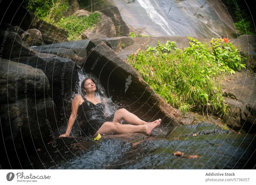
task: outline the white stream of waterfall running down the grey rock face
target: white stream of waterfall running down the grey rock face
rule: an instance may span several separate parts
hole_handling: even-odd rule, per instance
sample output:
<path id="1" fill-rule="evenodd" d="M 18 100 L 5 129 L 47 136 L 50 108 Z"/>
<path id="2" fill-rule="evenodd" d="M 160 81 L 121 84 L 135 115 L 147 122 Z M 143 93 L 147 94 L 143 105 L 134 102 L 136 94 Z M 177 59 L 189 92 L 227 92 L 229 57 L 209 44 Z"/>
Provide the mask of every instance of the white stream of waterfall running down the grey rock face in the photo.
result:
<path id="1" fill-rule="evenodd" d="M 157 25 L 160 25 L 161 28 L 167 33 L 167 35 L 173 36 L 175 33 L 171 30 L 169 23 L 165 20 L 163 16 L 161 16 L 152 5 L 150 0 L 137 0 L 141 7 L 143 7 L 148 17 Z M 154 0 L 155 1 L 155 0 Z M 156 3 L 156 2 L 155 2 Z M 157 3 L 156 3 L 157 4 Z M 170 34 L 170 32 L 172 34 Z"/>

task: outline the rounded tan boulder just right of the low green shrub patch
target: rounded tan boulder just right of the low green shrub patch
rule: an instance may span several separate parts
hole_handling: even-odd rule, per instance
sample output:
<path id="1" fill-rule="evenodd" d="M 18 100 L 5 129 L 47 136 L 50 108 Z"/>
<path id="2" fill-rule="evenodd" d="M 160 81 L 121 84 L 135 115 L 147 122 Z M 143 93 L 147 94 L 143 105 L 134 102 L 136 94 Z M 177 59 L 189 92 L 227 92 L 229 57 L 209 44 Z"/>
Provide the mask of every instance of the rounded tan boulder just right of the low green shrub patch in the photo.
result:
<path id="1" fill-rule="evenodd" d="M 105 16 L 103 13 L 99 11 L 95 11 L 100 14 L 100 22 L 96 25 L 94 25 L 91 28 L 88 28 L 85 30 L 85 35 L 90 32 L 90 33 L 100 33 L 103 35 L 106 35 L 108 38 L 115 37 L 116 36 L 116 29 L 113 21 L 111 18 Z"/>

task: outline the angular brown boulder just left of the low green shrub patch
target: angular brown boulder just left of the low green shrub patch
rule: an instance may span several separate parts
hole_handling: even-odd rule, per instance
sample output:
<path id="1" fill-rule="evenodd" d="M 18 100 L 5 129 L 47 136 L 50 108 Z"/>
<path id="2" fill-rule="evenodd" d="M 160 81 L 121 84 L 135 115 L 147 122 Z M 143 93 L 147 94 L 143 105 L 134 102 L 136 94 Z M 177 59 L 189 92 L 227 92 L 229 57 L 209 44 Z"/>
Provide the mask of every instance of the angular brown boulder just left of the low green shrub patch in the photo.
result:
<path id="1" fill-rule="evenodd" d="M 38 19 L 36 29 L 38 29 L 42 33 L 43 41 L 45 44 L 68 41 L 68 31 L 51 25 L 50 23 L 47 23 L 42 19 Z"/>

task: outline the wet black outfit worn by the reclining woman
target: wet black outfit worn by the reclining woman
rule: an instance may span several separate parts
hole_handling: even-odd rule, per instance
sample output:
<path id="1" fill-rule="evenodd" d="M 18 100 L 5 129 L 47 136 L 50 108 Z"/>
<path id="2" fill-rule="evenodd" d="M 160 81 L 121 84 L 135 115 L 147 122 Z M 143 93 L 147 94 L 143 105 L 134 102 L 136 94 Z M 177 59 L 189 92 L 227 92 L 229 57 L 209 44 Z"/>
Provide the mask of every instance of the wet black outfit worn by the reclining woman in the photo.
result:
<path id="1" fill-rule="evenodd" d="M 82 96 L 83 97 L 83 96 Z M 77 118 L 80 125 L 80 134 L 83 137 L 93 136 L 105 122 L 112 122 L 114 113 L 105 117 L 105 104 L 101 101 L 96 105 L 86 98 L 79 105 L 77 110 Z"/>

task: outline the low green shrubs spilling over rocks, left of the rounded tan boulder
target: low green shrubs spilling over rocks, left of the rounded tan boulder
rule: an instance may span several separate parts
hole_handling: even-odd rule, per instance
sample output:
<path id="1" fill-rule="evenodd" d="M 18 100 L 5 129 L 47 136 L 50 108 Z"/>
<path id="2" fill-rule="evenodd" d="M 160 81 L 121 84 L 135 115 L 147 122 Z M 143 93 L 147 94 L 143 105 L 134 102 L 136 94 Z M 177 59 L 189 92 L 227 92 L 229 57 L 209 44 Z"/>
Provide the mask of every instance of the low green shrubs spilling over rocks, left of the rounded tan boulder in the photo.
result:
<path id="1" fill-rule="evenodd" d="M 93 25 L 100 22 L 100 14 L 95 12 L 89 16 L 68 16 L 67 18 L 62 17 L 56 24 L 57 26 L 68 31 L 68 40 L 78 40 L 79 36 L 87 28 L 92 28 Z"/>

